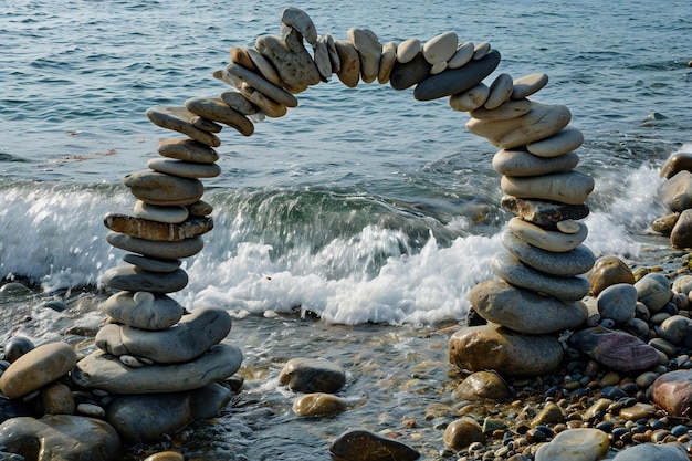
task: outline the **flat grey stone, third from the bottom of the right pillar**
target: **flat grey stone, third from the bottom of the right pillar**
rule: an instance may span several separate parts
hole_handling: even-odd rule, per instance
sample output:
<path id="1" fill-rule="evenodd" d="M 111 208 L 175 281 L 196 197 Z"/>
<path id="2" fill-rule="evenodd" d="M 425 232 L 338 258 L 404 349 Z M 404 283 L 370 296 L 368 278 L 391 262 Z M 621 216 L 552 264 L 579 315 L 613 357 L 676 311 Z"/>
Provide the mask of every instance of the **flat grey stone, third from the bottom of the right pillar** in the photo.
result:
<path id="1" fill-rule="evenodd" d="M 490 263 L 495 275 L 505 282 L 558 300 L 579 301 L 589 292 L 589 282 L 585 277 L 553 276 L 523 264 L 505 251 L 493 254 Z"/>

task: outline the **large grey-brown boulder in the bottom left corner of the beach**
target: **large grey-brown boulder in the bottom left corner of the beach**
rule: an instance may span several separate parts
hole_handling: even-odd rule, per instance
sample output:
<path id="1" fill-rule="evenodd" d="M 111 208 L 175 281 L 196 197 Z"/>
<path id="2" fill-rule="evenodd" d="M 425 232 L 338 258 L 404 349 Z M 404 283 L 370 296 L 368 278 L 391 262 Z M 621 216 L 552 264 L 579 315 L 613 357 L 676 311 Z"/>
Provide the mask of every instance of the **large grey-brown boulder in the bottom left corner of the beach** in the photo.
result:
<path id="1" fill-rule="evenodd" d="M 0 425 L 0 447 L 12 453 L 36 453 L 31 459 L 40 461 L 122 459 L 120 438 L 111 425 L 74 415 L 8 419 Z"/>

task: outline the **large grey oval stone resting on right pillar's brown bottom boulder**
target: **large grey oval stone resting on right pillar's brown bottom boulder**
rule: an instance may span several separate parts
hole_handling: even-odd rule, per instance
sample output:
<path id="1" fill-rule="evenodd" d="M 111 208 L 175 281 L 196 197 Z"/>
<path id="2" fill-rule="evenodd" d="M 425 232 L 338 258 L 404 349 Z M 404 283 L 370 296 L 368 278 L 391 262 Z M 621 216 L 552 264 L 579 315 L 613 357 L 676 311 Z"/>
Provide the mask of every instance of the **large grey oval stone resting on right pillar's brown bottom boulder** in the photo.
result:
<path id="1" fill-rule="evenodd" d="M 562 302 L 499 281 L 479 283 L 469 293 L 469 300 L 486 321 L 534 335 L 576 328 L 588 316 L 580 301 Z"/>

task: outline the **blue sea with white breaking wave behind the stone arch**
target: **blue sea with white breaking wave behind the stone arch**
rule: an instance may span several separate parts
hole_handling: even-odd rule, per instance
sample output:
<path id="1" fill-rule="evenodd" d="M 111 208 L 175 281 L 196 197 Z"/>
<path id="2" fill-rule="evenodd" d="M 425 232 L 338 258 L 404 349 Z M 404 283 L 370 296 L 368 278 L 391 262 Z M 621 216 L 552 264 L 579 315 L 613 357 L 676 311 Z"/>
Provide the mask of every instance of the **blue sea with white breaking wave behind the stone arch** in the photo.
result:
<path id="1" fill-rule="evenodd" d="M 71 325 L 97 326 L 98 279 L 123 264 L 102 219 L 132 208 L 120 178 L 146 169 L 158 139 L 176 137 L 150 124 L 145 111 L 229 90 L 212 73 L 229 63 L 231 46 L 279 34 L 289 6 L 0 0 L 0 280 L 34 287 L 30 301 L 0 302 L 0 340 L 24 334 L 41 342 Z M 502 62 L 486 83 L 499 73 L 547 73 L 547 86 L 532 98 L 569 107 L 570 126 L 586 138 L 577 169 L 596 181 L 587 245 L 632 266 L 673 253 L 650 227 L 668 213 L 657 196 L 661 166 L 671 154 L 692 153 L 688 0 L 294 6 L 318 34 L 336 39 L 356 27 L 381 43 L 424 42 L 447 31 L 460 41 L 489 41 Z M 406 362 L 418 332 L 463 321 L 468 292 L 493 277 L 489 258 L 511 218 L 500 208 L 500 176 L 491 167 L 496 148 L 466 132 L 468 114 L 448 99 L 422 103 L 412 88 L 377 83 L 348 88 L 336 76 L 296 96 L 298 107 L 258 122 L 251 137 L 231 128 L 220 134 L 222 174 L 205 181 L 214 229 L 202 252 L 184 263 L 190 283 L 174 295 L 188 308 L 231 312 L 245 343 L 245 378 L 258 394 L 279 392 L 271 383 L 281 360 L 307 340 L 294 336 L 298 324 L 307 337 L 318 331 L 314 352 L 329 355 L 325 344 L 336 336 L 352 344 L 346 350 L 364 354 L 379 332 L 399 357 L 380 360 Z M 36 307 L 46 298 L 73 308 L 55 318 Z M 349 343 L 349 335 L 357 339 Z M 264 412 L 274 415 L 280 404 L 260 401 L 255 411 L 271 419 Z M 375 408 L 374 415 L 384 411 Z M 247 423 L 242 415 L 228 418 L 231 426 Z M 298 428 L 296 434 L 314 436 Z M 220 431 L 227 441 L 233 432 Z M 275 451 L 283 443 L 272 439 L 275 432 L 263 437 L 271 447 L 248 443 L 237 458 L 224 455 L 326 459 L 325 440 L 295 444 L 291 458 Z"/>

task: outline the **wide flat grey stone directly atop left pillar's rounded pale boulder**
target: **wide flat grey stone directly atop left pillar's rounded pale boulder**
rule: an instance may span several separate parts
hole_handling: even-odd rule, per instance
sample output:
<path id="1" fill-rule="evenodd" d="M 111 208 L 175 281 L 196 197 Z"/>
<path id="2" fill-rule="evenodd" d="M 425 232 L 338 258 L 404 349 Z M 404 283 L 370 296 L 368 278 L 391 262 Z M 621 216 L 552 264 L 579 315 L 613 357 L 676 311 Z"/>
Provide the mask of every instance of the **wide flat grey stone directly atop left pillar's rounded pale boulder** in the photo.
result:
<path id="1" fill-rule="evenodd" d="M 188 274 L 182 269 L 165 273 L 145 271 L 136 265 L 122 265 L 104 272 L 101 283 L 109 290 L 174 293 L 187 286 Z"/>

